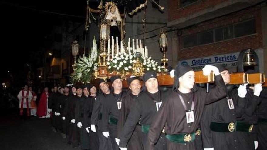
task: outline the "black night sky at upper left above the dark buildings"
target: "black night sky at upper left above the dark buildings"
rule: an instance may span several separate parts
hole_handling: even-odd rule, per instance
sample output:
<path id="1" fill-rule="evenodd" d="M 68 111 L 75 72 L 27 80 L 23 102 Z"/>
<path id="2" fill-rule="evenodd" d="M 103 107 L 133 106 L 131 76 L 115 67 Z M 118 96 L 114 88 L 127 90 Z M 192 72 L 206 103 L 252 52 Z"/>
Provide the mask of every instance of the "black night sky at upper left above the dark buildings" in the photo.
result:
<path id="1" fill-rule="evenodd" d="M 46 34 L 51 31 L 55 21 L 71 19 L 85 22 L 85 18 L 56 13 L 85 17 L 86 0 L 0 1 L 1 72 L 9 70 L 19 73 L 27 62 L 31 63 L 30 54 L 43 45 Z M 3 73 L 1 77 L 4 76 Z"/>

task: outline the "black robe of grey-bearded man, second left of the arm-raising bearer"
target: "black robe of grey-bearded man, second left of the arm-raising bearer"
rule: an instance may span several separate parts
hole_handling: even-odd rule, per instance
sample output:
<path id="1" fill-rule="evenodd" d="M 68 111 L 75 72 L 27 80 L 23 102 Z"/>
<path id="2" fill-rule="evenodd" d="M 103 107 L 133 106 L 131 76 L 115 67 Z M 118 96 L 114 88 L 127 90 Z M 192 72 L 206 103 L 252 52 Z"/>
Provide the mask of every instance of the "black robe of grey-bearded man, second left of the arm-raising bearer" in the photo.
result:
<path id="1" fill-rule="evenodd" d="M 131 92 L 131 91 L 129 91 Z M 120 115 L 117 125 L 117 137 L 120 137 L 120 132 L 123 128 L 123 125 L 126 122 L 126 119 L 130 113 L 131 107 L 137 101 L 138 95 L 133 95 L 132 93 L 128 93 L 125 97 L 122 98 Z M 133 135 L 131 136 L 129 142 L 127 143 L 128 150 L 142 150 L 142 132 L 141 126 L 138 123 L 134 129 Z"/>

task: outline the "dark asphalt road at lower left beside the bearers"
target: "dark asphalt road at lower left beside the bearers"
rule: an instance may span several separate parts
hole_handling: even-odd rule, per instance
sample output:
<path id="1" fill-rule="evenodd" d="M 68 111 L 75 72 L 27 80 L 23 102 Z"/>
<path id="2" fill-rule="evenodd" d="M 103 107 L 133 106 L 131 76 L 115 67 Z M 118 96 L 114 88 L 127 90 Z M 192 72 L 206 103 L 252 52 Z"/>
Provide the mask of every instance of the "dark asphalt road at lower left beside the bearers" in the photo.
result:
<path id="1" fill-rule="evenodd" d="M 0 150 L 79 150 L 52 131 L 50 119 L 19 118 L 14 111 L 0 118 Z"/>

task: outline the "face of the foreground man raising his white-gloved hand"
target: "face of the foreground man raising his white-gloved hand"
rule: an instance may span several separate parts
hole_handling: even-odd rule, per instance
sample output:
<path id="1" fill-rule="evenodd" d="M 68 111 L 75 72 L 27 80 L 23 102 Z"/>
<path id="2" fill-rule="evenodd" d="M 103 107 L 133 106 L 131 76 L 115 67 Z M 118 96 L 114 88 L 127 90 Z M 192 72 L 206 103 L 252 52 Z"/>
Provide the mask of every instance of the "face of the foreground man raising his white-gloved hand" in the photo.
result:
<path id="1" fill-rule="evenodd" d="M 183 76 L 179 78 L 179 86 L 192 89 L 195 83 L 195 73 L 194 71 L 186 72 Z"/>

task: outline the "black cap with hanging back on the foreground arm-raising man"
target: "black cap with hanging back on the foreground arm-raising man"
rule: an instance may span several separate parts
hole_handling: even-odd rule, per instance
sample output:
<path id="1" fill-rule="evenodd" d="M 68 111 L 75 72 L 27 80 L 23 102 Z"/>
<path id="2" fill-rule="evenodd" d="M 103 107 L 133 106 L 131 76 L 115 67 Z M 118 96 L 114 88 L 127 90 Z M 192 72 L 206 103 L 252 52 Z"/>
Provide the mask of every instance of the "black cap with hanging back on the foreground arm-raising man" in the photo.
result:
<path id="1" fill-rule="evenodd" d="M 190 66 L 176 65 L 174 70 L 174 84 L 172 89 L 177 90 L 179 87 L 179 78 L 189 71 L 194 71 Z"/>

